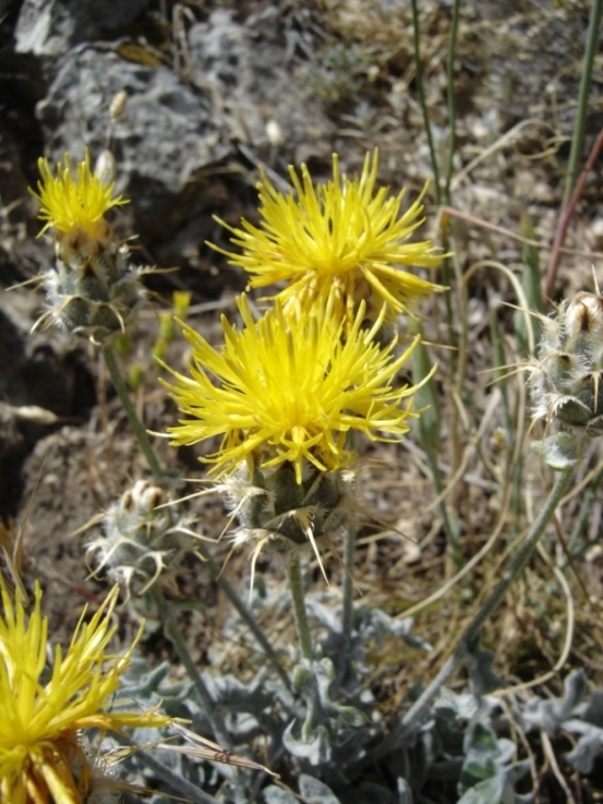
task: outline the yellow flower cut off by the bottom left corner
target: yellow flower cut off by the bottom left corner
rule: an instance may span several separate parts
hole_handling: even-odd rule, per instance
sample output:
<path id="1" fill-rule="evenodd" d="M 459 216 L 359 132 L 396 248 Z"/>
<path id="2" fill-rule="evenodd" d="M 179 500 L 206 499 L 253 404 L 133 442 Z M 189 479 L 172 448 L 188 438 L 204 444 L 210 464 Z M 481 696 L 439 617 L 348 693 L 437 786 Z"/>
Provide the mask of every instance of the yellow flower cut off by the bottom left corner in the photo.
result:
<path id="1" fill-rule="evenodd" d="M 0 591 L 0 801 L 81 804 L 93 773 L 77 739 L 81 729 L 117 732 L 167 725 L 170 719 L 155 711 L 110 709 L 134 648 L 123 656 L 105 653 L 114 632 L 117 587 L 89 623 L 84 611 L 67 651 L 55 648 L 50 670 L 39 586 L 28 616 L 20 593 L 13 600 L 1 579 Z"/>

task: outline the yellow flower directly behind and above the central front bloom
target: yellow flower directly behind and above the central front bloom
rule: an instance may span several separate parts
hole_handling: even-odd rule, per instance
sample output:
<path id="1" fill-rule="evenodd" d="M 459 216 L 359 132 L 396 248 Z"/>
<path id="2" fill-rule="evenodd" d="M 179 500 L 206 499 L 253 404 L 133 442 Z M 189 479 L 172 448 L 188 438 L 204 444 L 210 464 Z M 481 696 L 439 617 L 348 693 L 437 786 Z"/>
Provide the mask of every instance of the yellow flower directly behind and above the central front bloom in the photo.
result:
<path id="1" fill-rule="evenodd" d="M 252 274 L 250 287 L 262 288 L 278 281 L 287 287 L 278 298 L 298 299 L 307 310 L 324 307 L 335 288 L 336 314 L 346 314 L 347 326 L 355 319 L 362 299 L 374 321 L 386 303 L 386 321 L 409 312 L 413 302 L 435 290 L 445 290 L 400 269 L 399 265 L 435 266 L 442 254 L 430 242 L 408 242 L 423 223 L 423 195 L 400 215 L 406 191 L 387 197 L 388 189 L 375 192 L 378 153 L 366 154 L 360 179 L 351 181 L 339 172 L 333 156 L 333 181 L 314 188 L 305 165 L 301 180 L 289 168 L 297 199 L 279 193 L 262 173 L 258 227 L 243 220 L 242 228 L 219 221 L 234 237 L 242 254 L 221 251 L 230 263 Z M 426 189 L 426 187 L 425 187 Z"/>

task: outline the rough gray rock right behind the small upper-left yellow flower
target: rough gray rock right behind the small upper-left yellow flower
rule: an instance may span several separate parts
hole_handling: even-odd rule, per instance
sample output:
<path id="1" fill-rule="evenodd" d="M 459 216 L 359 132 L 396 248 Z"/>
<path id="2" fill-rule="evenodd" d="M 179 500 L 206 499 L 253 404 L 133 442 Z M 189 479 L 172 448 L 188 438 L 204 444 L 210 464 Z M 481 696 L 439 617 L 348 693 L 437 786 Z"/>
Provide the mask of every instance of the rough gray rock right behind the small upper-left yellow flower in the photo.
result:
<path id="1" fill-rule="evenodd" d="M 122 91 L 125 113 L 111 128 L 109 106 Z M 111 136 L 118 191 L 133 200 L 130 208 L 149 226 L 172 212 L 196 170 L 229 151 L 202 93 L 193 93 L 167 67 L 128 62 L 89 46 L 70 53 L 37 112 L 57 160 L 65 152 L 80 159 L 85 146 L 97 155 Z"/>

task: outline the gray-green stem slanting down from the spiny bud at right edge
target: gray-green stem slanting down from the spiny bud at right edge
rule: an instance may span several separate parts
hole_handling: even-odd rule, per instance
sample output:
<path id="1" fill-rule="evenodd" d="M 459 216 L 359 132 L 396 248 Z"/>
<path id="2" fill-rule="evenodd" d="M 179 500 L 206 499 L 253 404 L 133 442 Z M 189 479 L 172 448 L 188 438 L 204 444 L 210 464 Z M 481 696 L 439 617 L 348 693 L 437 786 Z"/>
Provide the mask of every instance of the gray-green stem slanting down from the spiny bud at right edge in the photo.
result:
<path id="1" fill-rule="evenodd" d="M 559 472 L 555 480 L 555 484 L 551 489 L 546 503 L 541 508 L 535 521 L 526 541 L 519 548 L 507 571 L 498 584 L 494 587 L 492 595 L 483 603 L 480 611 L 475 614 L 473 620 L 469 623 L 467 628 L 461 634 L 455 652 L 448 659 L 446 664 L 441 669 L 432 683 L 421 694 L 419 699 L 411 706 L 408 712 L 402 718 L 400 727 L 402 731 L 408 730 L 418 721 L 424 713 L 425 709 L 430 706 L 432 700 L 435 698 L 439 689 L 444 684 L 453 676 L 457 668 L 467 659 L 471 647 L 473 646 L 482 626 L 489 620 L 489 617 L 496 611 L 503 598 L 507 593 L 512 583 L 519 577 L 523 567 L 528 563 L 530 556 L 534 552 L 534 549 L 540 540 L 540 537 L 544 532 L 544 529 L 551 518 L 553 517 L 560 499 L 565 494 L 569 481 L 571 479 L 574 467 L 568 467 L 564 471 Z"/>

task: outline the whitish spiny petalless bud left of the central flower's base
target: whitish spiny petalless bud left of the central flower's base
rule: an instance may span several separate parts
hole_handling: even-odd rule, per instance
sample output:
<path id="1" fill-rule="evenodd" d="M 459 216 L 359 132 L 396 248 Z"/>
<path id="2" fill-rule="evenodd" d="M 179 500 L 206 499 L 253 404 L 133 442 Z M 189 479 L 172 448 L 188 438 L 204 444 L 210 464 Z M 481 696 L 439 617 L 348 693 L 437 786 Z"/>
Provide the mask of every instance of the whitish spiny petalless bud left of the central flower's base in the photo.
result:
<path id="1" fill-rule="evenodd" d="M 110 505 L 104 536 L 86 550 L 95 564 L 94 575 L 104 571 L 134 595 L 143 595 L 159 579 L 173 589 L 184 555 L 194 552 L 194 537 L 188 527 L 191 523 L 167 502 L 160 485 L 138 480 Z"/>

